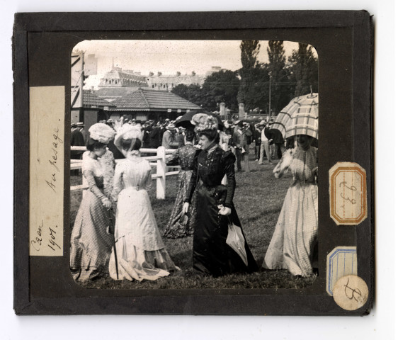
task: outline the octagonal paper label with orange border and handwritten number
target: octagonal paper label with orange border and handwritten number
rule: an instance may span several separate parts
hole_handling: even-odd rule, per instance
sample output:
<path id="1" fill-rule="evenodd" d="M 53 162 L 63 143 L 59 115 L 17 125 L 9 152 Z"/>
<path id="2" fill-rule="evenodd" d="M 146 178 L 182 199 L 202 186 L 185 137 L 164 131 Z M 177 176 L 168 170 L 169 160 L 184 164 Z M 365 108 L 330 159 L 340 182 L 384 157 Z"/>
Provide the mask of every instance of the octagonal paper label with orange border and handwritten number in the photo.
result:
<path id="1" fill-rule="evenodd" d="M 330 216 L 337 225 L 358 225 L 368 216 L 366 172 L 356 163 L 339 162 L 329 170 Z"/>

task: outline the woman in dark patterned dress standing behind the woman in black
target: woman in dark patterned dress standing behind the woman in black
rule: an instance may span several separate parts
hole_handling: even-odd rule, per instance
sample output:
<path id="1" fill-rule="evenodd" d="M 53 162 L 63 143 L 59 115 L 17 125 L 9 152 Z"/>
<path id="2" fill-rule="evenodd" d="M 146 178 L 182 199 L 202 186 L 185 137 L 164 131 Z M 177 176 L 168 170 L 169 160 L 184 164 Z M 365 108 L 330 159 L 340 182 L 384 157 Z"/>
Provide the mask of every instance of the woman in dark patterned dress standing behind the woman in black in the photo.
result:
<path id="1" fill-rule="evenodd" d="M 183 203 L 186 200 L 186 192 L 191 181 L 193 171 L 193 159 L 199 151 L 193 146 L 192 142 L 195 138 L 193 130 L 186 130 L 185 145 L 174 152 L 172 161 L 178 161 L 181 171 L 178 174 L 178 193 L 174 208 L 171 211 L 169 223 L 163 231 L 165 237 L 176 239 L 178 237 L 186 237 L 193 234 L 193 226 L 196 218 L 196 195 L 193 194 L 193 204 L 188 209 L 187 214 L 183 214 Z"/>

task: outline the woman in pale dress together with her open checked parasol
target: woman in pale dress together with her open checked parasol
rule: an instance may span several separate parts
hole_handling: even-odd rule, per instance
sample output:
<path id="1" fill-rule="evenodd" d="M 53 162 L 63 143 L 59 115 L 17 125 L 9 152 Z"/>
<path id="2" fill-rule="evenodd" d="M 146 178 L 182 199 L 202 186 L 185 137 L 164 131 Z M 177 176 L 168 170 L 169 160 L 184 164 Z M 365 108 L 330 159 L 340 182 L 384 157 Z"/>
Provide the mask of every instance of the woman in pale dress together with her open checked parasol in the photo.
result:
<path id="1" fill-rule="evenodd" d="M 290 170 L 293 182 L 263 261 L 264 268 L 288 269 L 297 277 L 317 270 L 318 237 L 318 149 L 311 146 L 318 137 L 318 111 L 313 94 L 302 97 L 293 99 L 297 110 L 284 125 L 285 137 L 295 136 L 297 146 L 288 149 L 273 170 L 276 178 Z"/>

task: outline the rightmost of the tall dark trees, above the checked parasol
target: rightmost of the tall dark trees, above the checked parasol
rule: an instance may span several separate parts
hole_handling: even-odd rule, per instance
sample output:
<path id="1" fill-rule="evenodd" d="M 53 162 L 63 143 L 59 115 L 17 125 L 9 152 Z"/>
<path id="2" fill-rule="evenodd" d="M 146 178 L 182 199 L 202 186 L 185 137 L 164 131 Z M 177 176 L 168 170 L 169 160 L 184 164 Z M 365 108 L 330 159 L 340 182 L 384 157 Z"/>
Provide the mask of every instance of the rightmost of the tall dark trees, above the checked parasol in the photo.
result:
<path id="1" fill-rule="evenodd" d="M 290 80 L 295 84 L 294 96 L 318 92 L 318 59 L 312 53 L 312 46 L 299 43 L 289 57 Z"/>

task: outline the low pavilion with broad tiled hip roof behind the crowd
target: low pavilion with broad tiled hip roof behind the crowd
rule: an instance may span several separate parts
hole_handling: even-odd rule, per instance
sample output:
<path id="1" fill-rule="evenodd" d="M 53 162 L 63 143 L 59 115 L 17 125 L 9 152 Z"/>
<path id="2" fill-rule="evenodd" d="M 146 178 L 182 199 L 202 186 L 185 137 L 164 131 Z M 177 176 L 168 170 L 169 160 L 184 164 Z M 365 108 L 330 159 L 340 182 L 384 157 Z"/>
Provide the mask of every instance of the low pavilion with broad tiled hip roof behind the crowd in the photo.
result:
<path id="1" fill-rule="evenodd" d="M 200 110 L 200 106 L 187 101 L 168 91 L 154 89 L 138 89 L 112 102 L 108 115 L 112 120 L 122 115 L 139 120 L 176 119 L 178 115 L 192 110 Z"/>

